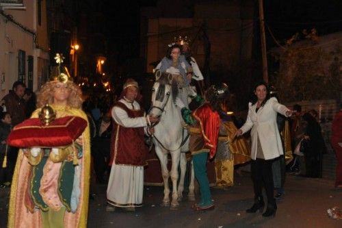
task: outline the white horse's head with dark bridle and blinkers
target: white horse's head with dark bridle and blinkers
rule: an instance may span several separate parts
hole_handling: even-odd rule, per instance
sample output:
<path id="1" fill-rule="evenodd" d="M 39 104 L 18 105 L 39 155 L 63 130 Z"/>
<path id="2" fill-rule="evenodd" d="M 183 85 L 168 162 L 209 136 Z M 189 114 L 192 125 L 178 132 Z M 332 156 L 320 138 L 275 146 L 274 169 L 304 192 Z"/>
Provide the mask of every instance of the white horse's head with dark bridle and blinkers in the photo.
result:
<path id="1" fill-rule="evenodd" d="M 170 73 L 157 71 L 155 84 L 152 88 L 152 103 L 150 114 L 161 116 L 168 102 L 173 102 L 178 94 L 178 86 Z"/>

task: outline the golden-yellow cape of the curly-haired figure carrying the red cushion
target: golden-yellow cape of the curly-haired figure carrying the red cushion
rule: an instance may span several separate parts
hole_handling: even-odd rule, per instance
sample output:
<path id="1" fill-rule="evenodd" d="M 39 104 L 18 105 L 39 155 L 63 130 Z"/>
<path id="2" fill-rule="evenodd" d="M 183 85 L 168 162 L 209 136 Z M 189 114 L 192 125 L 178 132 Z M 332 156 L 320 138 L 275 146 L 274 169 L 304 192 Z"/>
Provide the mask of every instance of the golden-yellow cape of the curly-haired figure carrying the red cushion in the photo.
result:
<path id="1" fill-rule="evenodd" d="M 53 110 L 57 113 L 57 118 L 64 116 L 79 116 L 85 119 L 88 123 L 86 114 L 81 109 L 75 109 L 68 106 L 51 105 Z M 32 114 L 32 118 L 37 118 L 40 109 L 36 110 Z M 88 198 L 89 198 L 89 184 L 90 184 L 90 128 L 89 123 L 83 134 L 80 136 L 83 138 L 82 148 L 83 155 L 79 158 L 80 169 L 80 201 L 77 207 L 77 211 L 65 212 L 64 214 L 64 227 L 87 227 L 88 218 Z M 27 160 L 22 150 L 19 150 L 14 175 L 12 178 L 12 186 L 10 193 L 10 207 L 8 210 L 8 227 L 25 227 L 25 228 L 41 228 L 42 218 L 40 210 L 29 212 L 25 206 L 25 194 L 29 186 L 29 177 L 31 174 L 31 164 Z"/>

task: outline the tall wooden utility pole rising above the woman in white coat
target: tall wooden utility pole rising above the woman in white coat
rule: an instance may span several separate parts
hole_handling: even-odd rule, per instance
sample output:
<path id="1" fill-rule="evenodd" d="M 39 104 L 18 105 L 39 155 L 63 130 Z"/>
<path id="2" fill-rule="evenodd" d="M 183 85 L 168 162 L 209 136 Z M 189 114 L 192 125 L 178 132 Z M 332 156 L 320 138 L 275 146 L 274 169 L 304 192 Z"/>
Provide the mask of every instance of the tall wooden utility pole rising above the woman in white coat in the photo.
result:
<path id="1" fill-rule="evenodd" d="M 263 18 L 263 0 L 259 0 L 259 21 L 260 21 L 261 54 L 263 58 L 263 80 L 266 83 L 268 83 L 265 21 Z"/>

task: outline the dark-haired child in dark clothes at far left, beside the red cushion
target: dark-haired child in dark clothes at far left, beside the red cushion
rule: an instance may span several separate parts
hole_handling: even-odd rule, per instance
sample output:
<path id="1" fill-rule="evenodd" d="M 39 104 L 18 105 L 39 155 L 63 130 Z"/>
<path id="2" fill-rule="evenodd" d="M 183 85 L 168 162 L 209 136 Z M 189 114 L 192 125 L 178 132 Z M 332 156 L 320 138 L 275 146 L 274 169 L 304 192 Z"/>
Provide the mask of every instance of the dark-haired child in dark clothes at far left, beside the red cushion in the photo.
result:
<path id="1" fill-rule="evenodd" d="M 6 188 L 11 184 L 10 168 L 7 164 L 7 153 L 10 146 L 6 143 L 6 139 L 12 129 L 12 120 L 8 112 L 1 112 L 0 119 L 0 188 Z"/>

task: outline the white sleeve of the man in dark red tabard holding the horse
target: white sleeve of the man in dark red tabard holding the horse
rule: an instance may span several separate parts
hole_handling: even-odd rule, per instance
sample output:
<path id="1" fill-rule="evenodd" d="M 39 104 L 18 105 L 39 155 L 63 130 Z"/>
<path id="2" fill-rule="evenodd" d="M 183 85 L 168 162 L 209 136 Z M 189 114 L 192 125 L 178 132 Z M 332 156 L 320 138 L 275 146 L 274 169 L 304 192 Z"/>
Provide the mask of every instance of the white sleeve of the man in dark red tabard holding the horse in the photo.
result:
<path id="1" fill-rule="evenodd" d="M 136 118 L 130 118 L 127 115 L 127 112 L 122 110 L 121 107 L 114 106 L 111 110 L 111 117 L 114 118 L 114 121 L 118 123 L 118 125 L 121 125 L 122 127 L 146 127 L 146 118 L 144 116 L 142 117 L 136 117 Z"/>

